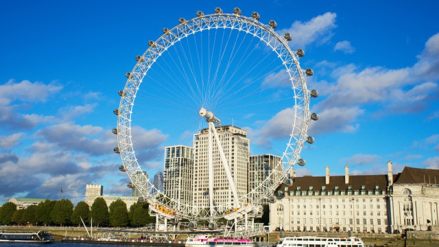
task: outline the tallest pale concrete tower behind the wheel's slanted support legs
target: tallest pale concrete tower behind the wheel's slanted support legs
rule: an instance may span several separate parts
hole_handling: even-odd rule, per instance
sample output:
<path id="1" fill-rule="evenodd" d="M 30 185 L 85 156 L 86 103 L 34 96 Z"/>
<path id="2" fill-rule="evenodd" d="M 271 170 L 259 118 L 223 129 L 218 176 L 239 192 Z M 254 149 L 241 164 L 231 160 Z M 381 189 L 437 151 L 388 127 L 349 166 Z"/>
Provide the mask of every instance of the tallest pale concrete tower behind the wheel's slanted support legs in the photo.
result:
<path id="1" fill-rule="evenodd" d="M 215 127 L 221 141 L 224 154 L 230 167 L 233 182 L 239 197 L 247 193 L 248 162 L 250 156 L 250 140 L 246 130 L 235 126 Z M 194 178 L 193 178 L 193 205 L 200 208 L 209 208 L 209 163 L 208 163 L 208 135 L 209 128 L 194 134 Z M 223 205 L 217 211 L 224 212 L 233 209 L 235 205 L 233 193 L 227 180 L 224 165 L 219 156 L 217 142 L 213 139 L 213 204 Z"/>

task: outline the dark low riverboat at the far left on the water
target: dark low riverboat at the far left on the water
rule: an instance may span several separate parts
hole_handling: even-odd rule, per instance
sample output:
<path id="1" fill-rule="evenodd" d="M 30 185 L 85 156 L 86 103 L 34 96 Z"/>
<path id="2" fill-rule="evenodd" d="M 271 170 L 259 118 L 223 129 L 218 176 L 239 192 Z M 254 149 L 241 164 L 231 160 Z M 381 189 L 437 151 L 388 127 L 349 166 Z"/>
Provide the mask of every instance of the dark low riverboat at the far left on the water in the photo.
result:
<path id="1" fill-rule="evenodd" d="M 38 231 L 38 233 L 6 233 L 0 231 L 1 242 L 48 244 L 54 242 L 54 237 L 46 231 Z"/>

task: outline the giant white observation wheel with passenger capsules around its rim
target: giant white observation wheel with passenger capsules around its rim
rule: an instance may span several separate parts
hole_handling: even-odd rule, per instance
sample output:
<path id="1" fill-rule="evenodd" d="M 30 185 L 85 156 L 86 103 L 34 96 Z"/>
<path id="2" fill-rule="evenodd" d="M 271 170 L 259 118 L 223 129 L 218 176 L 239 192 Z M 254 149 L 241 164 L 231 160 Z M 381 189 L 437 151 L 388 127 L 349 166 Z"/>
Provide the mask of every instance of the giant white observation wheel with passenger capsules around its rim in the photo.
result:
<path id="1" fill-rule="evenodd" d="M 198 11 L 193 19 L 180 18 L 176 27 L 163 28 L 160 38 L 147 42 L 126 73 L 112 130 L 119 143 L 114 151 L 123 161 L 119 169 L 130 177 L 128 187 L 136 187 L 150 209 L 171 222 L 260 215 L 262 203 L 276 200 L 278 186 L 292 183 L 293 166 L 305 165 L 300 151 L 314 142 L 307 128 L 318 119 L 309 111 L 310 98 L 318 97 L 307 89 L 313 71 L 300 68 L 305 52 L 289 47 L 291 34 L 280 36 L 275 21 L 265 25 L 259 18 L 257 12 L 243 16 L 239 8 L 233 14 L 216 8 L 215 14 Z M 192 187 L 178 184 L 174 191 L 198 191 L 191 203 L 181 193 L 158 191 L 143 172 L 167 169 L 165 156 L 183 158 L 165 152 L 176 145 L 195 161 L 165 172 L 165 180 L 189 173 Z M 270 169 L 252 177 L 245 172 L 248 156 L 268 153 L 278 157 Z M 247 189 L 243 180 L 259 182 Z"/>

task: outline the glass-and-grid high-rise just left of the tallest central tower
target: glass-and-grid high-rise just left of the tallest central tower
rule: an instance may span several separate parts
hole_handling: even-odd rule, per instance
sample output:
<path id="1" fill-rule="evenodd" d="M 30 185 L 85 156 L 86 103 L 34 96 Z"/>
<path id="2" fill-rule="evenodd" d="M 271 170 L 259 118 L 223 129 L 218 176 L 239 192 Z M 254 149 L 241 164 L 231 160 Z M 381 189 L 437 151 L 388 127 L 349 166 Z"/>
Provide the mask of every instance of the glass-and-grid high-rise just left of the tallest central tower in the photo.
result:
<path id="1" fill-rule="evenodd" d="M 182 204 L 192 203 L 193 148 L 184 145 L 165 148 L 163 191 Z"/>

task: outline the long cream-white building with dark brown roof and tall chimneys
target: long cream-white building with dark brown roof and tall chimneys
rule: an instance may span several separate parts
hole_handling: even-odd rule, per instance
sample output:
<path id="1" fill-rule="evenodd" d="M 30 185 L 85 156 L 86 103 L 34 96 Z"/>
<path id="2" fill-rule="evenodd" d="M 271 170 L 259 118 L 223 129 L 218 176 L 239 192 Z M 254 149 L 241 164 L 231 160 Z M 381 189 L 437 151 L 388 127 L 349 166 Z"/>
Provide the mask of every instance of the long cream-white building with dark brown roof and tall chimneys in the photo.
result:
<path id="1" fill-rule="evenodd" d="M 401 174 L 303 176 L 282 185 L 270 204 L 270 228 L 285 231 L 392 233 L 438 225 L 439 170 L 405 167 Z M 439 181 L 439 180 L 438 180 Z"/>

